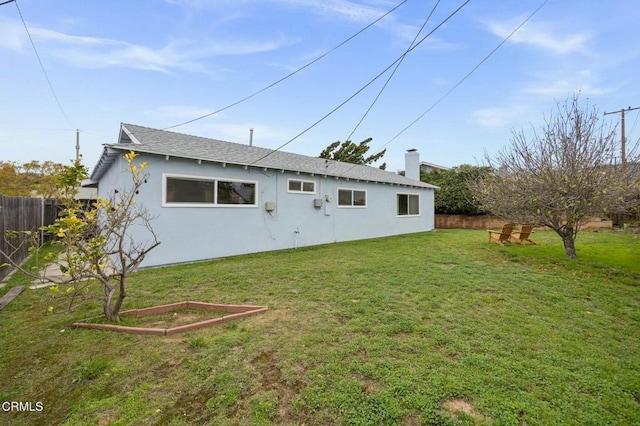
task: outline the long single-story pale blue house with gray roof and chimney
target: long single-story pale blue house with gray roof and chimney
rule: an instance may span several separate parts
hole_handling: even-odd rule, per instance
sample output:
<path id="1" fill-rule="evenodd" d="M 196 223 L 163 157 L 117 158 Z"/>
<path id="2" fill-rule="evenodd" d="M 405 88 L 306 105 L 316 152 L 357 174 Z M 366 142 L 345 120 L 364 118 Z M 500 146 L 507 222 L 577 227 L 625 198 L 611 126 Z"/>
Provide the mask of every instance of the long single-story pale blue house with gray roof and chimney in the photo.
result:
<path id="1" fill-rule="evenodd" d="M 122 124 L 91 174 L 98 196 L 130 184 L 123 155 L 147 163 L 136 200 L 160 246 L 141 265 L 192 262 L 434 229 L 436 186 L 378 168 Z M 147 238 L 136 234 L 134 241 Z"/>

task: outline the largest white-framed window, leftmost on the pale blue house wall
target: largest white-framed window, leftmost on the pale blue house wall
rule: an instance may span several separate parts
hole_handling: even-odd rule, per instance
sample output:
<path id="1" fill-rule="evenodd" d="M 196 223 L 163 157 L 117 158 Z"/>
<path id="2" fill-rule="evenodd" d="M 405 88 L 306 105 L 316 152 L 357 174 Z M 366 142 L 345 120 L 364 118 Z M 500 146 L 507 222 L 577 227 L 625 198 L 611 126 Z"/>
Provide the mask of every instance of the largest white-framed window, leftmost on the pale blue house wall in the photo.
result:
<path id="1" fill-rule="evenodd" d="M 256 182 L 165 176 L 164 204 L 173 206 L 256 206 Z"/>

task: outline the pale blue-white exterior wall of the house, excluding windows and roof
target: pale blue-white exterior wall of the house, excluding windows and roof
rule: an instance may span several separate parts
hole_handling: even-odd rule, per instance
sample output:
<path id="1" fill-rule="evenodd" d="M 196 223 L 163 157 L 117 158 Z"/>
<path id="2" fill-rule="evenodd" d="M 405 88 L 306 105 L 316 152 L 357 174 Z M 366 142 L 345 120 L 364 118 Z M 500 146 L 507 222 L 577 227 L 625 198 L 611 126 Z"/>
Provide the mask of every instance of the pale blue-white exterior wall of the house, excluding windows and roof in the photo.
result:
<path id="1" fill-rule="evenodd" d="M 337 241 L 349 241 L 434 229 L 434 191 L 397 185 L 356 182 L 334 177 L 310 176 L 217 163 L 197 164 L 195 160 L 141 154 L 135 162 L 146 161 L 148 183 L 136 199 L 155 216 L 152 227 L 161 244 L 146 257 L 143 267 L 191 262 L 238 254 L 295 248 Z M 225 207 L 163 206 L 164 174 L 201 178 L 223 178 L 257 183 L 257 205 Z M 106 197 L 129 183 L 121 158 L 99 183 L 98 193 Z M 288 179 L 315 182 L 315 194 L 289 193 Z M 338 207 L 338 188 L 365 190 L 367 206 Z M 397 216 L 397 193 L 419 194 L 419 216 Z M 323 201 L 315 208 L 313 200 Z M 265 202 L 276 205 L 265 210 Z M 133 230 L 135 232 L 135 230 Z M 141 242 L 147 234 L 133 234 Z"/>

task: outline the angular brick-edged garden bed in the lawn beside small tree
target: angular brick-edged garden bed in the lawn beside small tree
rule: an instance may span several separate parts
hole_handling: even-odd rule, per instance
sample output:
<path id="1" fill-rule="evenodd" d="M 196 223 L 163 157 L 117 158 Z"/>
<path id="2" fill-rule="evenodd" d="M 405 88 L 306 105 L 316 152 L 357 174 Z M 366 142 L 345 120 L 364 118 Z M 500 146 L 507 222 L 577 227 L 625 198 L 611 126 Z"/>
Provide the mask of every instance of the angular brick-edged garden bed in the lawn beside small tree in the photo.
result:
<path id="1" fill-rule="evenodd" d="M 74 322 L 72 327 L 120 331 L 132 334 L 168 336 L 211 327 L 223 322 L 264 312 L 266 306 L 222 305 L 205 302 L 178 302 L 120 313 L 125 324 L 104 323 L 104 317 Z M 135 325 L 126 325 L 135 324 Z"/>

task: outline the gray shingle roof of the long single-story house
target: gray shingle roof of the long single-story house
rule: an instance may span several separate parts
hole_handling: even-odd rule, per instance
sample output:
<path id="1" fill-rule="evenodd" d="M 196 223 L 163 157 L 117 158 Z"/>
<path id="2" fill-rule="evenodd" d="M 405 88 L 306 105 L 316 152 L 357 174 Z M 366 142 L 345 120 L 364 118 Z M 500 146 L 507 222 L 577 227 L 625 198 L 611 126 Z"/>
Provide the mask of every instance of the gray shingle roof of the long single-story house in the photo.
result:
<path id="1" fill-rule="evenodd" d="M 105 145 L 91 179 L 98 181 L 114 160 L 113 150 L 157 154 L 194 160 L 266 167 L 268 169 L 341 177 L 421 188 L 437 188 L 375 167 L 309 157 L 290 152 L 225 142 L 181 133 L 157 130 L 133 124 L 121 125 L 117 144 Z M 109 149 L 111 148 L 111 150 Z M 111 154 L 110 154 L 111 152 Z"/>

